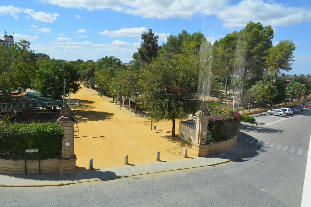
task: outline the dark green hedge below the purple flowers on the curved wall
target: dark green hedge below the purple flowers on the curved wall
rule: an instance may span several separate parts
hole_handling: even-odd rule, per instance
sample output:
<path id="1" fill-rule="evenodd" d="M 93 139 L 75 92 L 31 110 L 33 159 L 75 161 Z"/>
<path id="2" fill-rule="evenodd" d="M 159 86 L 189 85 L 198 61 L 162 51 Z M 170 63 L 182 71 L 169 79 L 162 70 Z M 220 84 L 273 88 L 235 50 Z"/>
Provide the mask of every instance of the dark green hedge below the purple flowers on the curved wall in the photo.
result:
<path id="1" fill-rule="evenodd" d="M 234 137 L 239 132 L 240 122 L 227 121 L 209 121 L 208 122 L 208 142 L 219 142 Z"/>

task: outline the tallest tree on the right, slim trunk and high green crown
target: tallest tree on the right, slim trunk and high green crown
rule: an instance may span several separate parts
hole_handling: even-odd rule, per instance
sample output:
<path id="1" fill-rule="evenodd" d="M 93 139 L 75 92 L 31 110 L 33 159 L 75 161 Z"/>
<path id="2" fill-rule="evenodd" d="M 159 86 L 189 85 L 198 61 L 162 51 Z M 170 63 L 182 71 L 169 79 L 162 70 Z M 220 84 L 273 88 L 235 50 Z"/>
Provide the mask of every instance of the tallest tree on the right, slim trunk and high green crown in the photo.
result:
<path id="1" fill-rule="evenodd" d="M 248 22 L 238 33 L 235 51 L 235 70 L 242 78 L 240 104 L 243 103 L 245 79 L 249 72 L 263 73 L 266 56 L 272 47 L 273 29 L 263 27 L 260 22 Z"/>

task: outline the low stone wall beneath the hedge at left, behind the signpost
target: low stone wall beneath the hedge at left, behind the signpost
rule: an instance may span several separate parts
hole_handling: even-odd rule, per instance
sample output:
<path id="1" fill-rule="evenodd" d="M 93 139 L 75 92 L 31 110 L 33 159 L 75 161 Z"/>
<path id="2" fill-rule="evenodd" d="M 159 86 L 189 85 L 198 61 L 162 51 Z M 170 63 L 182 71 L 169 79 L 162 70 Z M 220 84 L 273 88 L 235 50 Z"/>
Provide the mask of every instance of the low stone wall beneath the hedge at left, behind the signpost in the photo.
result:
<path id="1" fill-rule="evenodd" d="M 41 173 L 74 173 L 77 172 L 76 155 L 66 159 L 40 159 Z M 27 160 L 27 174 L 39 173 L 38 160 Z M 25 174 L 25 160 L 0 158 L 0 173 L 12 175 Z"/>

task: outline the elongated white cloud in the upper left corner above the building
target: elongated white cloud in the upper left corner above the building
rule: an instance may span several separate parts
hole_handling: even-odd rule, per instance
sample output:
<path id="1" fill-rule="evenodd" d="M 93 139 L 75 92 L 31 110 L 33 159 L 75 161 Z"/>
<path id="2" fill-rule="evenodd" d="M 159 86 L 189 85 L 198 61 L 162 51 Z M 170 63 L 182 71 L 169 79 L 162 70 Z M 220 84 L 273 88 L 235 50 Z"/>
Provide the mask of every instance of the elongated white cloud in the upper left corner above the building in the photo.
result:
<path id="1" fill-rule="evenodd" d="M 19 13 L 25 13 L 31 16 L 34 20 L 38 20 L 40 22 L 54 22 L 59 16 L 58 13 L 46 13 L 43 11 L 34 11 L 33 9 L 14 7 L 12 5 L 9 6 L 0 6 L 0 14 L 10 14 L 15 19 L 18 19 Z M 29 16 L 25 16 L 26 19 Z"/>

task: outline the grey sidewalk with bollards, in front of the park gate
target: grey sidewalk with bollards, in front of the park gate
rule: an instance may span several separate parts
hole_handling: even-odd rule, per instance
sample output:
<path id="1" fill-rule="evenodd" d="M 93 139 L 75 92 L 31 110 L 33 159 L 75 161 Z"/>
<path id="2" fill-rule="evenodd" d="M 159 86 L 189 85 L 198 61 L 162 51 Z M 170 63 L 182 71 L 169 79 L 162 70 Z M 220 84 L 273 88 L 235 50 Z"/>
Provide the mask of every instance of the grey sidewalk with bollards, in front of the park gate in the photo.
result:
<path id="1" fill-rule="evenodd" d="M 159 173 L 172 170 L 197 168 L 223 164 L 238 159 L 246 153 L 248 149 L 244 138 L 238 138 L 238 142 L 229 150 L 215 153 L 207 157 L 185 158 L 182 160 L 131 165 L 121 167 L 78 170 L 77 173 L 58 174 L 35 174 L 35 175 L 0 175 L 0 187 L 41 187 L 41 186 L 61 186 L 81 182 L 91 182 L 108 179 L 118 179 L 148 173 Z M 156 158 L 156 157 L 155 157 Z"/>

